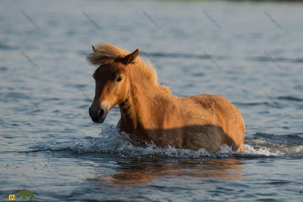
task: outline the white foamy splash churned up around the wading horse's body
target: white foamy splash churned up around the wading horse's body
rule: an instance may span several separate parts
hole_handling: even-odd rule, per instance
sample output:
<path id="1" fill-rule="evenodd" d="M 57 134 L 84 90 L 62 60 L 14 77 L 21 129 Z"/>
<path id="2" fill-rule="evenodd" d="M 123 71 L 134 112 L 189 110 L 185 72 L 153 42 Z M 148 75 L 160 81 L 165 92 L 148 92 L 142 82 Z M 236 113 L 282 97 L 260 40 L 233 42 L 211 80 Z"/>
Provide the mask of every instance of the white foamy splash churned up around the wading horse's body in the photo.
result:
<path id="1" fill-rule="evenodd" d="M 255 134 L 258 136 L 258 134 Z M 271 139 L 269 134 L 267 138 Z M 222 145 L 218 152 L 210 152 L 205 149 L 192 151 L 190 149 L 177 149 L 175 147 L 157 147 L 155 144 L 146 144 L 145 147 L 132 144 L 128 134 L 119 131 L 112 124 L 102 127 L 102 132 L 97 138 L 89 141 L 64 141 L 58 142 L 50 139 L 47 142 L 35 144 L 29 148 L 33 151 L 71 151 L 72 153 L 114 153 L 122 157 L 146 157 L 159 156 L 170 158 L 225 158 L 225 157 L 294 157 L 293 154 L 300 154 L 302 158 L 303 146 L 281 147 L 276 143 L 270 143 L 264 138 L 253 137 L 245 141 L 245 153 L 238 153 L 231 150 L 228 145 Z M 284 144 L 284 143 L 283 143 Z M 275 148 L 274 148 L 275 147 Z M 280 148 L 280 149 L 278 149 Z M 292 154 L 292 155 L 291 155 Z M 298 156 L 295 156 L 296 158 Z"/>

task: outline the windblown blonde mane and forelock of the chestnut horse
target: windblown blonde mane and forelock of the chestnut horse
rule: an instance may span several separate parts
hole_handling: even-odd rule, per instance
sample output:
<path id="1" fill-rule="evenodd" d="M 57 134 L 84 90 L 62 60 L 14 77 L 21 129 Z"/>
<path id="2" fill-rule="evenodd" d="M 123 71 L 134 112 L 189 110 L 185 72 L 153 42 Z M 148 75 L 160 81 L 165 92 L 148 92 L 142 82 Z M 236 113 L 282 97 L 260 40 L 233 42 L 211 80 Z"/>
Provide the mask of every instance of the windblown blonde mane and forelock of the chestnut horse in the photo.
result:
<path id="1" fill-rule="evenodd" d="M 96 45 L 95 49 L 93 50 L 94 51 L 87 56 L 87 61 L 89 64 L 94 66 L 110 64 L 115 62 L 118 58 L 123 58 L 131 53 L 127 49 L 124 50 L 121 47 L 118 48 L 112 44 L 102 42 L 99 42 L 99 44 Z M 138 70 L 142 77 L 146 78 L 150 82 L 150 84 L 169 91 L 167 87 L 159 86 L 157 82 L 156 70 L 149 61 L 146 63 L 142 60 L 142 58 L 137 57 L 135 62 L 134 67 Z"/>

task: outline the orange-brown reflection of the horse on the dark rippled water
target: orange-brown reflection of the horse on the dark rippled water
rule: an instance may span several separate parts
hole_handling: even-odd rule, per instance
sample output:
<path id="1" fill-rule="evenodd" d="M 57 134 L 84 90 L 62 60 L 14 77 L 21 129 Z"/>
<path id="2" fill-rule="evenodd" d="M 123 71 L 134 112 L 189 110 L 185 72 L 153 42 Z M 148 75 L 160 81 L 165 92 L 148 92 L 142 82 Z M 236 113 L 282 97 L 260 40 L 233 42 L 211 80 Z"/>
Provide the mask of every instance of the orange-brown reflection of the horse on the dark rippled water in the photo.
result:
<path id="1" fill-rule="evenodd" d="M 163 165 L 149 160 L 145 166 L 135 166 L 113 176 L 104 176 L 106 181 L 113 184 L 137 184 L 161 179 L 195 177 L 213 180 L 239 180 L 243 162 L 237 159 L 208 159 L 205 161 L 178 161 L 176 165 Z M 107 179 L 107 180 L 105 180 Z"/>

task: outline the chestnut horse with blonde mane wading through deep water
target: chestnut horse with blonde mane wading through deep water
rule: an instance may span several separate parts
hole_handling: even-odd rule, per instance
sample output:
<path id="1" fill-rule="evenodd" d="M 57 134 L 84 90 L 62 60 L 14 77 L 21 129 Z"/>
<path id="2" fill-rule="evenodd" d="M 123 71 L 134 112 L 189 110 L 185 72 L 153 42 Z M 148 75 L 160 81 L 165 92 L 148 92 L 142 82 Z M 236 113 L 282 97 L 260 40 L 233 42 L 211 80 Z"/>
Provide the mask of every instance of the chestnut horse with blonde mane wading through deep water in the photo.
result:
<path id="1" fill-rule="evenodd" d="M 158 147 L 220 151 L 228 145 L 244 152 L 245 124 L 238 109 L 219 95 L 175 97 L 159 85 L 152 64 L 138 57 L 139 50 L 99 42 L 87 55 L 93 74 L 95 97 L 89 116 L 103 123 L 108 112 L 119 106 L 117 128 L 133 140 Z"/>

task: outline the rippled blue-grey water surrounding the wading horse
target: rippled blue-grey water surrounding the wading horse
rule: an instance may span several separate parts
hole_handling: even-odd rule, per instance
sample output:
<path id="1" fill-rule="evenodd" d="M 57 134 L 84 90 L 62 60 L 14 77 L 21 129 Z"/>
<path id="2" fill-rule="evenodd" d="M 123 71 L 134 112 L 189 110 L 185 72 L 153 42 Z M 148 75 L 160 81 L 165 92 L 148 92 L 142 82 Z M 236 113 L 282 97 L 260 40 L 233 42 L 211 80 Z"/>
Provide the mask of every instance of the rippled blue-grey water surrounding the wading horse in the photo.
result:
<path id="1" fill-rule="evenodd" d="M 25 188 L 37 201 L 302 201 L 302 8 L 300 2 L 1 1 L 1 196 Z M 148 53 L 161 67 L 158 81 L 175 96 L 228 98 L 245 121 L 246 153 L 135 146 L 114 127 L 117 107 L 103 124 L 93 123 L 95 67 L 82 51 L 98 41 L 139 48 L 144 59 L 142 51 Z"/>

